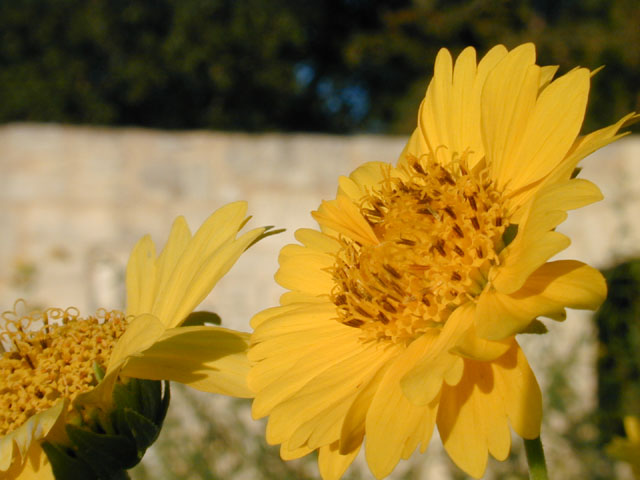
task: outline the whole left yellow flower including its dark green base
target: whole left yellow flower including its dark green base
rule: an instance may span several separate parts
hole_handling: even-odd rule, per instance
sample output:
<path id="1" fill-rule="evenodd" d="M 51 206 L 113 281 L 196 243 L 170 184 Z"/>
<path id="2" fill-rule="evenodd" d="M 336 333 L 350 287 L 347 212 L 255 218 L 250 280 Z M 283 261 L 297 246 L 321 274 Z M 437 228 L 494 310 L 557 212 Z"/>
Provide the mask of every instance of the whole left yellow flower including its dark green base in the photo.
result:
<path id="1" fill-rule="evenodd" d="M 251 396 L 248 334 L 205 324 L 213 317 L 204 312 L 190 315 L 264 235 L 239 234 L 246 211 L 244 202 L 226 205 L 195 235 L 178 217 L 159 255 L 143 237 L 127 265 L 125 312 L 5 312 L 0 477 L 66 478 L 71 468 L 74 478 L 121 478 L 116 463 L 137 463 L 157 437 L 168 404 L 157 380 Z"/>

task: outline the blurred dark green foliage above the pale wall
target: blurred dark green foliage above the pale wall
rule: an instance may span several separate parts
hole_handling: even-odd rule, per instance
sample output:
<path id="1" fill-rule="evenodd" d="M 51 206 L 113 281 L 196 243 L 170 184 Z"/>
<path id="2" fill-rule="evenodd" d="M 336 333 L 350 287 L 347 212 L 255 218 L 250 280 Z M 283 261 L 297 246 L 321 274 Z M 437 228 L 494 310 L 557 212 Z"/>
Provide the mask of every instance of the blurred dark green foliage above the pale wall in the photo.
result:
<path id="1" fill-rule="evenodd" d="M 409 133 L 442 46 L 606 65 L 587 128 L 640 109 L 636 0 L 0 0 L 0 122 Z M 636 127 L 638 128 L 638 127 Z"/>

